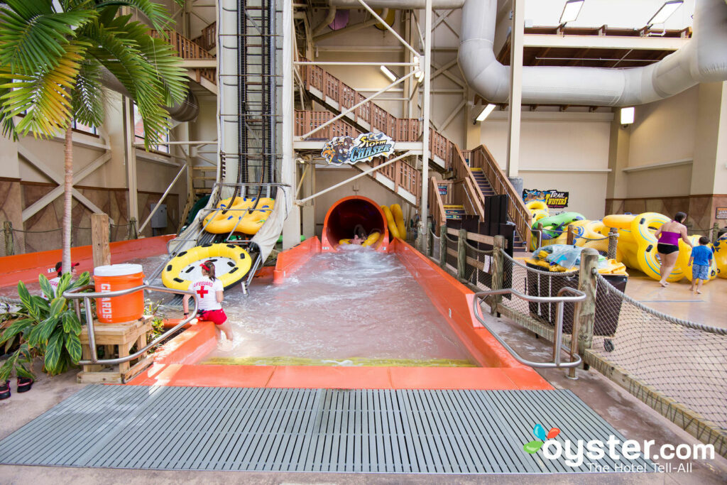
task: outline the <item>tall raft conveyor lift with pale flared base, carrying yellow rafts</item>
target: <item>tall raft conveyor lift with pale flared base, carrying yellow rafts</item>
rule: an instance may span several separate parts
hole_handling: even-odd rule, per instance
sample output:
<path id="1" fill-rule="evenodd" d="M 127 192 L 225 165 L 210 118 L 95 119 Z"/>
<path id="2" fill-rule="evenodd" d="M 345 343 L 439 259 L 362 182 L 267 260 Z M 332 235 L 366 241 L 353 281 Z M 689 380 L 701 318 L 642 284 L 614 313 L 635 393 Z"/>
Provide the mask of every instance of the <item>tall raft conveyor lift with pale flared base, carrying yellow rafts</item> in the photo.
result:
<path id="1" fill-rule="evenodd" d="M 292 56 L 287 52 L 290 49 L 283 49 L 283 33 L 292 32 L 292 18 L 276 9 L 275 0 L 220 0 L 217 25 L 220 92 L 216 182 L 206 207 L 169 242 L 169 257 L 201 244 L 241 246 L 253 259 L 244 280 L 249 283 L 273 249 L 292 207 L 293 180 L 288 180 L 293 172 L 292 150 L 285 156 L 281 153 L 286 137 L 278 116 L 283 111 L 281 105 L 286 103 L 281 75 L 284 57 Z M 292 65 L 292 57 L 285 62 Z M 249 209 L 220 207 L 225 199 L 239 200 L 236 198 L 256 202 Z M 275 203 L 265 208 L 261 199 L 274 199 Z M 219 233 L 205 221 L 209 215 L 239 220 L 254 210 L 266 212 L 267 217 L 250 239 L 240 238 L 236 228 Z M 156 278 L 165 265 L 149 279 Z"/>

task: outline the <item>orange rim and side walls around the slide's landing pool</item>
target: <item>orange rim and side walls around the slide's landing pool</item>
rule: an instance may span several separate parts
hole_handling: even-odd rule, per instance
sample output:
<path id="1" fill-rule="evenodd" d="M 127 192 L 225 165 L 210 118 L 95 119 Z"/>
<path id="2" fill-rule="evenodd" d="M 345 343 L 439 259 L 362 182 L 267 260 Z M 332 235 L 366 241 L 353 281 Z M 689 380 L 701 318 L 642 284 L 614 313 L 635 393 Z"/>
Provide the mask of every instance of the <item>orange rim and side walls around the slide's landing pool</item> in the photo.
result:
<path id="1" fill-rule="evenodd" d="M 520 364 L 478 324 L 473 292 L 401 239 L 391 241 L 409 272 L 481 367 L 240 366 L 196 364 L 216 345 L 214 324 L 200 322 L 164 345 L 153 364 L 129 385 L 233 388 L 550 390 L 534 369 Z M 278 256 L 276 284 L 321 252 L 310 238 Z M 451 316 L 450 316 L 451 311 Z"/>

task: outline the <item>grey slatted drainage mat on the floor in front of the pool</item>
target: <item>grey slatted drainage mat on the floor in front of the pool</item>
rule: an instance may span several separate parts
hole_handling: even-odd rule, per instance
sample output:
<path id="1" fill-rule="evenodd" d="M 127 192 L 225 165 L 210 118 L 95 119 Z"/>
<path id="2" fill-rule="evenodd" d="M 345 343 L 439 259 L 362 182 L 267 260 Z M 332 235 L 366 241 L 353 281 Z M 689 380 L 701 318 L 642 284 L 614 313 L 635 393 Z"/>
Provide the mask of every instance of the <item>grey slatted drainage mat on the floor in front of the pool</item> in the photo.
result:
<path id="1" fill-rule="evenodd" d="M 569 390 L 340 390 L 89 385 L 0 441 L 0 463 L 153 470 L 559 473 L 651 462 L 529 454 L 533 428 L 606 441 Z M 603 469 L 603 468 L 601 468 Z"/>

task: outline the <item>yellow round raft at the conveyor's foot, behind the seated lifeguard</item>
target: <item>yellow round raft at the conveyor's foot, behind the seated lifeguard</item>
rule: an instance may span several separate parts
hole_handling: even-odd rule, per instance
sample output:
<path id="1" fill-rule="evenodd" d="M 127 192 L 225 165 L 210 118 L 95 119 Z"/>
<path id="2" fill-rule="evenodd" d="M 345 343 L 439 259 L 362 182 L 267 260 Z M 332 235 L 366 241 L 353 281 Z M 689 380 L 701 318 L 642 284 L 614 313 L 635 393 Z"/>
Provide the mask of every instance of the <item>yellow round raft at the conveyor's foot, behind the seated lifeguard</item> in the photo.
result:
<path id="1" fill-rule="evenodd" d="M 201 276 L 198 268 L 206 260 L 214 262 L 215 276 L 225 288 L 244 278 L 252 265 L 250 255 L 240 246 L 202 244 L 173 257 L 161 272 L 161 282 L 167 288 L 188 289 L 192 280 Z"/>

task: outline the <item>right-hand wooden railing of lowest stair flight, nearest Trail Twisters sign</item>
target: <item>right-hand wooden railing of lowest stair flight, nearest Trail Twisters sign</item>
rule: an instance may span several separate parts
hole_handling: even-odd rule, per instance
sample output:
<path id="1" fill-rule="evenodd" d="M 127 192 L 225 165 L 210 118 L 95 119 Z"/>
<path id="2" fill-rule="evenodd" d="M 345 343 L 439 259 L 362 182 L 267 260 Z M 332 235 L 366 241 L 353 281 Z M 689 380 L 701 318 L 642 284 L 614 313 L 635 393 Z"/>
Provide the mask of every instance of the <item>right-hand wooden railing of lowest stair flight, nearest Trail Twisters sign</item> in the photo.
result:
<path id="1" fill-rule="evenodd" d="M 468 151 L 467 155 L 470 159 L 470 167 L 482 169 L 495 193 L 507 194 L 510 199 L 510 204 L 507 204 L 507 215 L 515 223 L 521 238 L 526 241 L 526 247 L 530 247 L 532 221 L 530 211 L 525 207 L 521 194 L 515 192 L 513 184 L 507 179 L 505 172 L 502 172 L 494 156 L 485 145 L 480 145 L 474 150 Z"/>

